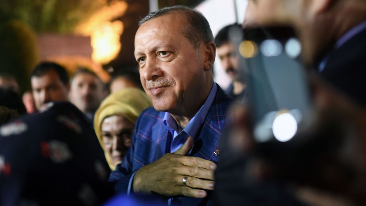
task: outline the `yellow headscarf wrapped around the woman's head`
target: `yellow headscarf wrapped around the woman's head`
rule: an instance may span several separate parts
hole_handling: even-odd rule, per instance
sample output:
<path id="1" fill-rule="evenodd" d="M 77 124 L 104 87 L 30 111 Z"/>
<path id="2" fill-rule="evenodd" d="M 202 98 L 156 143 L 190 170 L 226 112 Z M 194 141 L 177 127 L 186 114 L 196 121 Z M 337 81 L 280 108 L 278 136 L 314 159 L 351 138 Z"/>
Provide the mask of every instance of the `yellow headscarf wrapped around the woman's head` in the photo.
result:
<path id="1" fill-rule="evenodd" d="M 115 170 L 116 166 L 112 164 L 111 157 L 105 151 L 104 143 L 101 135 L 101 125 L 105 118 L 112 115 L 121 115 L 128 121 L 135 124 L 137 117 L 147 107 L 151 107 L 152 103 L 144 91 L 137 88 L 121 89 L 115 93 L 111 93 L 100 104 L 94 115 L 94 130 L 97 134 L 100 145 L 104 150 L 105 158 L 111 170 Z"/>

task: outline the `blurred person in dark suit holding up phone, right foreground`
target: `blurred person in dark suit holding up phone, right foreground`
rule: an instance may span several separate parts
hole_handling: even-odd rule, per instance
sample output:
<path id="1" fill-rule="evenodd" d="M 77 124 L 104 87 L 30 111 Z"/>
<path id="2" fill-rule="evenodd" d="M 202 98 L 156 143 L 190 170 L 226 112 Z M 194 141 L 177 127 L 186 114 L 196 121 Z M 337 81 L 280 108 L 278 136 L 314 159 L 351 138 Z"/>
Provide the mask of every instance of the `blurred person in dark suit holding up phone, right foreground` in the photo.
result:
<path id="1" fill-rule="evenodd" d="M 362 0 L 249 1 L 244 27 L 294 27 L 307 65 L 320 71 L 312 80 L 316 118 L 288 143 L 259 144 L 247 109 L 236 111 L 220 142 L 226 164 L 217 168 L 217 195 L 229 182 L 240 186 L 218 205 L 365 205 L 365 21 Z M 301 137 L 307 141 L 296 146 Z"/>

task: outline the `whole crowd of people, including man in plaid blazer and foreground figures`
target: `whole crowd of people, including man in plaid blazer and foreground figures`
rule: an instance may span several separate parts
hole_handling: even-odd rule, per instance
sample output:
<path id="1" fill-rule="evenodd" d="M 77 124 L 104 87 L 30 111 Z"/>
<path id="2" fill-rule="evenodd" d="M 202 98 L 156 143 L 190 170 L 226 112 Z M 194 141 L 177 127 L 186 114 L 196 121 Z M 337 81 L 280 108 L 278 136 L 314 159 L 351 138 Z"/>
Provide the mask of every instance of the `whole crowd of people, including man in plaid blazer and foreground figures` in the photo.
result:
<path id="1" fill-rule="evenodd" d="M 263 143 L 231 31 L 273 26 L 301 42 L 314 116 L 292 140 Z M 139 72 L 109 87 L 41 62 L 20 98 L 0 74 L 0 205 L 364 205 L 365 48 L 364 0 L 249 0 L 242 25 L 216 37 L 177 5 L 139 21 Z"/>

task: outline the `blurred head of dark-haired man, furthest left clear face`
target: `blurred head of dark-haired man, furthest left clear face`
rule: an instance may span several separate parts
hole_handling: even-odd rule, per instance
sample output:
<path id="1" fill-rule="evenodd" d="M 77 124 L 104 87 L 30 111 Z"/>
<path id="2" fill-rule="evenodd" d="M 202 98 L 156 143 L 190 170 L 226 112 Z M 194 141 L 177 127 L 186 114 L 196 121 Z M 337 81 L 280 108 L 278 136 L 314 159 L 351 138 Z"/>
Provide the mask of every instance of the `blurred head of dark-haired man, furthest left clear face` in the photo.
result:
<path id="1" fill-rule="evenodd" d="M 31 72 L 30 80 L 37 110 L 48 102 L 68 101 L 70 84 L 64 67 L 53 62 L 41 62 Z"/>

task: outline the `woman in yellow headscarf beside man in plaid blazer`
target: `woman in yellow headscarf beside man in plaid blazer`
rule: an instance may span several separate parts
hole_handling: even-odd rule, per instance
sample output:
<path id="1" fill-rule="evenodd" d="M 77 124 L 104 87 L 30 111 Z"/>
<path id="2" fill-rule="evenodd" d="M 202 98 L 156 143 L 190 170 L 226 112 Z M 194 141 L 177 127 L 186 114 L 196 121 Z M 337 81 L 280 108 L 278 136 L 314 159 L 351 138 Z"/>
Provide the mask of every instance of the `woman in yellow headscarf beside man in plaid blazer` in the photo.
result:
<path id="1" fill-rule="evenodd" d="M 131 146 L 137 117 L 151 106 L 146 93 L 137 88 L 121 89 L 100 104 L 94 115 L 94 130 L 112 170 Z"/>

